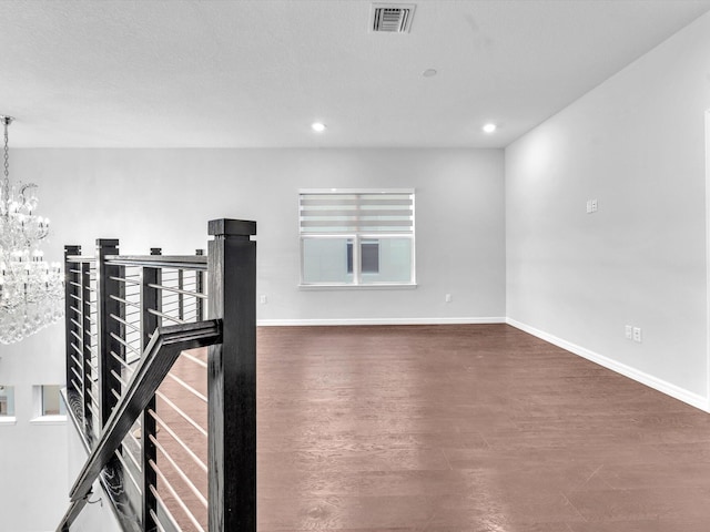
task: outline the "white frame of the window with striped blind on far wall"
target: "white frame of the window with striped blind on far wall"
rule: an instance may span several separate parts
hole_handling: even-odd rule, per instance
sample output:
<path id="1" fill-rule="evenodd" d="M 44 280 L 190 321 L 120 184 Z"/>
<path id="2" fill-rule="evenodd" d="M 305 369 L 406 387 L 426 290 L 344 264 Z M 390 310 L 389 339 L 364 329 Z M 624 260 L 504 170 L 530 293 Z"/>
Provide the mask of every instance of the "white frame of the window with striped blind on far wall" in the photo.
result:
<path id="1" fill-rule="evenodd" d="M 304 233 L 301 226 L 301 202 L 303 195 L 383 195 L 383 194 L 407 194 L 412 200 L 412 231 L 408 233 L 377 233 L 377 232 L 311 232 Z M 410 242 L 409 257 L 409 279 L 406 282 L 363 282 L 361 245 L 363 241 L 383 241 L 383 239 L 408 239 Z M 344 239 L 352 241 L 352 258 L 353 258 L 353 280 L 351 283 L 312 283 L 306 282 L 305 272 L 305 253 L 304 243 L 307 239 Z M 347 244 L 346 244 L 347 246 Z M 416 288 L 416 194 L 414 188 L 301 188 L 298 190 L 298 254 L 300 254 L 300 289 L 400 289 Z M 382 256 L 378 258 L 382 260 Z M 367 273 L 365 273 L 367 274 Z"/>

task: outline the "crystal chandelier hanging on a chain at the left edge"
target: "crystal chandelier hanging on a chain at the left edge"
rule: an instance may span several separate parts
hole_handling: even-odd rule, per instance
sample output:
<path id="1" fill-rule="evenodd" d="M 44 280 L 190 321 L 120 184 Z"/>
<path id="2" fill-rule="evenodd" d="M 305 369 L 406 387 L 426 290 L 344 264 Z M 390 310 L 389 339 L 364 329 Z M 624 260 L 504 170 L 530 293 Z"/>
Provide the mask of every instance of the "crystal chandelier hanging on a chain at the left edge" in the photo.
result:
<path id="1" fill-rule="evenodd" d="M 0 188 L 0 344 L 13 344 L 53 324 L 64 314 L 59 264 L 42 258 L 49 219 L 36 214 L 37 185 L 10 185 L 8 126 L 4 125 L 4 180 Z"/>

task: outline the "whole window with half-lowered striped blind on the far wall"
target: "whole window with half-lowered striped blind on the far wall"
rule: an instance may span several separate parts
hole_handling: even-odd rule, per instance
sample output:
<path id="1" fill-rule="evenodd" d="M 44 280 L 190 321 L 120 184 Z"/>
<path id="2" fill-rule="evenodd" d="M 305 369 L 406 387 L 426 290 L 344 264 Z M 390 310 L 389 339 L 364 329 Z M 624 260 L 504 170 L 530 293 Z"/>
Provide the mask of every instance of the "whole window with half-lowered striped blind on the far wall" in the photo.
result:
<path id="1" fill-rule="evenodd" d="M 415 284 L 414 191 L 301 191 L 303 286 Z"/>

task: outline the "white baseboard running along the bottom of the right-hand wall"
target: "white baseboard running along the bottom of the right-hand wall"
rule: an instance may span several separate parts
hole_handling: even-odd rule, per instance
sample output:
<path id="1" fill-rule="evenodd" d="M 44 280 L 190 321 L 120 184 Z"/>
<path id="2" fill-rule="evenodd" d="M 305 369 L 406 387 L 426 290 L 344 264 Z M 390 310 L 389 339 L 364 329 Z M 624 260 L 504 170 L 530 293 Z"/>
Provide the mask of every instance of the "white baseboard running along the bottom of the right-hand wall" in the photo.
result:
<path id="1" fill-rule="evenodd" d="M 626 364 L 618 362 L 609 357 L 605 357 L 604 355 L 599 355 L 598 352 L 577 346 L 576 344 L 564 340 L 520 321 L 516 321 L 515 319 L 506 318 L 506 323 L 515 327 L 516 329 L 520 329 L 525 332 L 528 332 L 529 335 L 540 338 L 541 340 L 548 341 L 557 347 L 561 347 L 562 349 L 574 352 L 575 355 L 586 358 L 587 360 L 598 364 L 599 366 L 616 371 L 617 374 L 623 375 L 625 377 L 636 380 L 637 382 L 653 388 L 655 390 L 666 393 L 667 396 L 673 397 L 679 401 L 686 402 L 691 407 L 696 407 L 706 412 L 710 412 L 710 399 L 707 397 L 702 397 L 698 393 L 688 391 L 676 385 L 653 377 L 652 375 L 648 375 L 636 368 L 627 366 Z"/>

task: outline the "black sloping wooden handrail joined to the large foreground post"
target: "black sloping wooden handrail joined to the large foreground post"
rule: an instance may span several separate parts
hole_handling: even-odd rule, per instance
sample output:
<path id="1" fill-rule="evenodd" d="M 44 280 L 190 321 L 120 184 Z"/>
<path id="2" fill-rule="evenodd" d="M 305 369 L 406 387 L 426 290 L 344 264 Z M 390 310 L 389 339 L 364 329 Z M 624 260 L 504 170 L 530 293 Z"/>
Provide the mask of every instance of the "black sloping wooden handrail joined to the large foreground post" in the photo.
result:
<path id="1" fill-rule="evenodd" d="M 143 357 L 121 401 L 105 423 L 99 442 L 84 463 L 70 491 L 71 504 L 57 532 L 69 530 L 88 502 L 91 487 L 131 427 L 153 398 L 181 351 L 222 342 L 222 321 L 211 319 L 194 324 L 160 327 L 146 346 Z"/>

